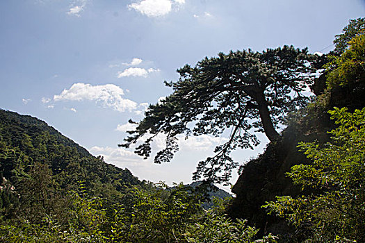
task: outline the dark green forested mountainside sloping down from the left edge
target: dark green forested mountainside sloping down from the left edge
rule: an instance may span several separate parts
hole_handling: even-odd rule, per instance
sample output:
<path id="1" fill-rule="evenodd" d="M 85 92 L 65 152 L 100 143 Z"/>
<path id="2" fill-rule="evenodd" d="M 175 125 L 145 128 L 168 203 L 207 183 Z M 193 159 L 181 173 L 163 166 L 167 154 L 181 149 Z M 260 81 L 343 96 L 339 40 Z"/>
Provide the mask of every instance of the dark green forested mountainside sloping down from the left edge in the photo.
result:
<path id="1" fill-rule="evenodd" d="M 93 194 L 118 194 L 140 185 L 128 169 L 108 165 L 35 117 L 0 110 L 0 171 L 16 183 L 36 163 L 47 165 L 57 186 L 74 189 L 82 181 Z"/>

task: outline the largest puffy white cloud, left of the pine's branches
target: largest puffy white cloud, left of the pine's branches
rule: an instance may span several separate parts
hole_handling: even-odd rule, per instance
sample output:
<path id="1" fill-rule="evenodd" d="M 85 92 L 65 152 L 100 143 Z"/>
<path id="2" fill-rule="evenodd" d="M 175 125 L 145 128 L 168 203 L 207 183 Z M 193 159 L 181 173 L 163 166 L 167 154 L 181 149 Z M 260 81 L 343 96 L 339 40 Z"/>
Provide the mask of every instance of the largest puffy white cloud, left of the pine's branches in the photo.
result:
<path id="1" fill-rule="evenodd" d="M 124 91 L 113 84 L 90 85 L 74 83 L 69 90 L 63 90 L 54 95 L 54 101 L 95 101 L 104 107 L 113 108 L 119 112 L 136 110 L 138 104 L 122 96 Z"/>

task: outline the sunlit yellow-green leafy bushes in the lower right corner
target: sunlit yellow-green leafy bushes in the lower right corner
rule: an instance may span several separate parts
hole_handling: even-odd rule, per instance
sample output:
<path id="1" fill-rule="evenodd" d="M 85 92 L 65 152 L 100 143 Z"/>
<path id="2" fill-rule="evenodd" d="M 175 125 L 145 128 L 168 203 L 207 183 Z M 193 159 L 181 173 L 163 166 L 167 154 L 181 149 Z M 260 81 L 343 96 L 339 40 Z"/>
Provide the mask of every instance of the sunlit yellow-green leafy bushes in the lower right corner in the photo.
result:
<path id="1" fill-rule="evenodd" d="M 288 174 L 295 185 L 313 193 L 280 196 L 265 207 L 297 228 L 306 242 L 364 242 L 365 240 L 365 108 L 330 112 L 337 128 L 332 142 L 299 147 L 313 160 L 295 165 Z"/>

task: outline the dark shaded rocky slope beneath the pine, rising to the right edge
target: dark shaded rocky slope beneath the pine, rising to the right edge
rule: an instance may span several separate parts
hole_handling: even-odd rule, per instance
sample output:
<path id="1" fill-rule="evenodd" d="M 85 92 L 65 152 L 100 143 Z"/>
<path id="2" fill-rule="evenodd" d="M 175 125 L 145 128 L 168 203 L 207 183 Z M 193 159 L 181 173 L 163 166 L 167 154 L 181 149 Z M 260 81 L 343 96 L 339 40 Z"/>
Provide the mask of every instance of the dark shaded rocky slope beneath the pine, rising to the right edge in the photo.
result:
<path id="1" fill-rule="evenodd" d="M 318 80 L 324 82 L 323 77 Z M 319 86 L 321 84 L 317 85 Z M 327 111 L 333 107 L 347 107 L 353 111 L 365 106 L 364 82 L 324 92 L 318 88 L 316 92 L 321 93 L 316 103 L 294 115 L 280 140 L 271 142 L 263 154 L 250 160 L 232 188 L 236 198 L 229 207 L 228 214 L 233 218 L 248 219 L 248 224 L 260 228 L 261 233 L 285 235 L 291 231 L 285 221 L 267 215 L 266 210 L 261 208 L 266 201 L 274 201 L 275 196 L 309 193 L 294 186 L 286 177 L 286 172 L 293 165 L 310 162 L 298 151 L 298 142 L 327 142 L 330 138 L 327 131 L 334 128 Z"/>

